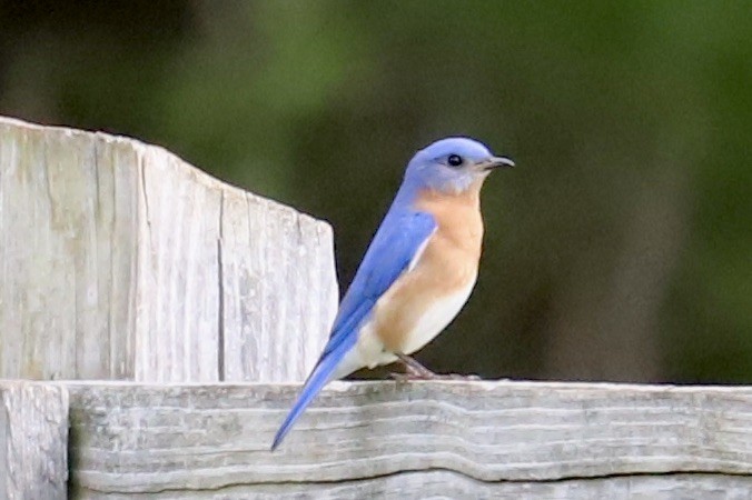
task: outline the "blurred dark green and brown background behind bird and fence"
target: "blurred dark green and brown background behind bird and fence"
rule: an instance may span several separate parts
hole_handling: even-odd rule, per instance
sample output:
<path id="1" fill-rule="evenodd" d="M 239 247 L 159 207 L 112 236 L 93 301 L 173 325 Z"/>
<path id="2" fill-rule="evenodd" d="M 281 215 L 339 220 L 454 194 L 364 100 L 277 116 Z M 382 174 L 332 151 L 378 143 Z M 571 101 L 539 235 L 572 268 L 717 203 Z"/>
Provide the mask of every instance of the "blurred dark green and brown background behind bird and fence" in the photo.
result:
<path id="1" fill-rule="evenodd" d="M 752 381 L 750 1 L 0 1 L 0 113 L 158 143 L 328 220 L 343 288 L 418 148 L 467 134 L 475 292 L 418 359 Z"/>

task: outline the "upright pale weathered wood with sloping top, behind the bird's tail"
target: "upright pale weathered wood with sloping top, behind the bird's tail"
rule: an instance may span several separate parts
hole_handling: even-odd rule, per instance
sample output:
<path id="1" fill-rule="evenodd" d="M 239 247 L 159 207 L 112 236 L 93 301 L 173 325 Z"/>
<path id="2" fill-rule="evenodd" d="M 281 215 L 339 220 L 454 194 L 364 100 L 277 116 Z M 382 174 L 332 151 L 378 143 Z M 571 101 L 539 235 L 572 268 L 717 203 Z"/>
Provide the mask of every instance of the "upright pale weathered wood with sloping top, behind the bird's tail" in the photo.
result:
<path id="1" fill-rule="evenodd" d="M 336 302 L 325 222 L 158 147 L 0 117 L 0 377 L 298 381 Z"/>

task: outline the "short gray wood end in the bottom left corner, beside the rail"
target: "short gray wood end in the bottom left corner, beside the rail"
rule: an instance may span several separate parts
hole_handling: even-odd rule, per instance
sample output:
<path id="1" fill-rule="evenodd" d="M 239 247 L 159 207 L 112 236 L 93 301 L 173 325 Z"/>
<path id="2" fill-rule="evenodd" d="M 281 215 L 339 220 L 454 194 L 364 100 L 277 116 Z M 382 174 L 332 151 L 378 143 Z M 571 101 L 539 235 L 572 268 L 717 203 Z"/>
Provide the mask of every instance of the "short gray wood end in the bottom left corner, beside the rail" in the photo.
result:
<path id="1" fill-rule="evenodd" d="M 0 380 L 0 499 L 65 499 L 68 391 Z"/>

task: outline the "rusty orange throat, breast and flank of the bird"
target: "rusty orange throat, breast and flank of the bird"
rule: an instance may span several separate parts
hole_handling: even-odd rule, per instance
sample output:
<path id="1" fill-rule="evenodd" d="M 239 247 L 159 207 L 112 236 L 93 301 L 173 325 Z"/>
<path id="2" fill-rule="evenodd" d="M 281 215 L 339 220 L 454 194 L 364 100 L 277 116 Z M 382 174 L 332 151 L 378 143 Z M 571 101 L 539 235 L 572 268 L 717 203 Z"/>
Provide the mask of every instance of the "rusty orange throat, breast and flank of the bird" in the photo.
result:
<path id="1" fill-rule="evenodd" d="M 418 341 L 420 346 L 416 348 L 416 341 L 410 339 L 410 336 L 431 340 L 454 318 L 464 303 L 466 294 L 475 283 L 481 258 L 483 240 L 481 183 L 482 181 L 457 194 L 426 190 L 417 197 L 416 209 L 431 213 L 436 220 L 437 228 L 414 267 L 399 277 L 376 303 L 375 333 L 386 350 L 405 352 L 406 348 L 410 351 L 419 349 L 425 342 Z M 447 306 L 457 310 L 448 311 L 451 316 L 446 321 L 442 319 L 437 322 L 428 321 L 429 326 L 426 327 L 424 316 L 432 307 L 442 303 L 444 299 L 463 293 L 465 298 L 459 306 Z M 448 300 L 447 304 L 454 302 Z M 436 311 L 432 313 L 435 314 Z M 416 327 L 419 326 L 438 331 L 416 331 Z"/>

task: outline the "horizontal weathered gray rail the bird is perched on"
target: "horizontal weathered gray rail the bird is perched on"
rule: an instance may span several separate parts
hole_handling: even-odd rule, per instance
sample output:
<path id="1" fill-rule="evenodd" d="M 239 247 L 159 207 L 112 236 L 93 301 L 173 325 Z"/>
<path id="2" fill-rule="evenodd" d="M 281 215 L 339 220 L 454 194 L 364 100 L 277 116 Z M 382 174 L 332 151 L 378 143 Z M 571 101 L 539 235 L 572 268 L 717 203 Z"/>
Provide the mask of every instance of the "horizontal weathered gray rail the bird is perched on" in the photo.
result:
<path id="1" fill-rule="evenodd" d="M 750 498 L 752 487 L 748 388 L 335 382 L 271 453 L 296 386 L 67 387 L 80 498 Z"/>

